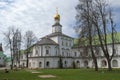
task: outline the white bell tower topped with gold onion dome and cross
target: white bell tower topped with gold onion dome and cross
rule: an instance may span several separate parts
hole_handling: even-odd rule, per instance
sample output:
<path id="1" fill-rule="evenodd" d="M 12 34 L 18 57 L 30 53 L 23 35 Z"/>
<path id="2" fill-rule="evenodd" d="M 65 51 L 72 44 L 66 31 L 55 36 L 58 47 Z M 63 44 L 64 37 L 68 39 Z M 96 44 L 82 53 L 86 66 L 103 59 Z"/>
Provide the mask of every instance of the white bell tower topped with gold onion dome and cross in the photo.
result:
<path id="1" fill-rule="evenodd" d="M 52 25 L 52 33 L 62 33 L 62 25 L 60 24 L 60 15 L 58 13 L 58 9 L 56 9 L 56 14 L 54 15 L 55 23 Z"/>

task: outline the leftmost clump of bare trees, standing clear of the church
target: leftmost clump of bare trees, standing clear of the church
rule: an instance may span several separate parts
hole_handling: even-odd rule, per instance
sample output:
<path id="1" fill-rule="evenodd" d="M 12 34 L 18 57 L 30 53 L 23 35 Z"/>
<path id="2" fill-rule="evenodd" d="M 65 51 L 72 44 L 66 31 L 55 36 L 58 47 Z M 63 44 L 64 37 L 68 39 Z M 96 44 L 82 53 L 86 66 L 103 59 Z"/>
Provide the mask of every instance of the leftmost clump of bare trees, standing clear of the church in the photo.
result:
<path id="1" fill-rule="evenodd" d="M 5 36 L 5 43 L 7 48 L 10 49 L 10 54 L 11 54 L 11 69 L 13 69 L 13 65 L 18 63 L 19 58 L 18 58 L 18 47 L 20 49 L 21 45 L 18 45 L 21 43 L 21 32 L 19 29 L 15 29 L 15 27 L 9 27 L 8 31 L 3 33 Z M 20 35 L 18 35 L 20 34 Z"/>

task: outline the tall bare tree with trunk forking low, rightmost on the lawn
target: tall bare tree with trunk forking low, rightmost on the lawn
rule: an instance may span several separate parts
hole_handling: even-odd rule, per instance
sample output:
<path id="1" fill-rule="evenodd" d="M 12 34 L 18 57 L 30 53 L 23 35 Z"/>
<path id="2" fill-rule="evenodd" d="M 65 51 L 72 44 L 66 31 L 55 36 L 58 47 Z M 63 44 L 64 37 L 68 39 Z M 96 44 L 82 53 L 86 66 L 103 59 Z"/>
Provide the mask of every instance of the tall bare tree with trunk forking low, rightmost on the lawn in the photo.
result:
<path id="1" fill-rule="evenodd" d="M 111 60 L 115 54 L 115 23 L 112 17 L 112 11 L 106 0 L 95 0 L 92 12 L 92 22 L 96 27 L 100 47 L 108 62 L 108 70 L 111 71 Z M 108 48 L 108 33 L 111 33 L 112 55 Z"/>

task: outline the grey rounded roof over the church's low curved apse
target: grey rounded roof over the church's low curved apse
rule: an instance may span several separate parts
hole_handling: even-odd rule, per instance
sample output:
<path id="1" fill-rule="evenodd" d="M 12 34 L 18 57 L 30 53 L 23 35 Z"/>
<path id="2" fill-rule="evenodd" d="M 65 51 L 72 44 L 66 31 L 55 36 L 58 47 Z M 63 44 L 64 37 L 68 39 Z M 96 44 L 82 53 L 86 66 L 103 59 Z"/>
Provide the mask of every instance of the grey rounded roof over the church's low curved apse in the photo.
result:
<path id="1" fill-rule="evenodd" d="M 42 38 L 40 41 L 38 41 L 36 44 L 39 45 L 58 45 L 56 42 L 54 42 L 53 40 L 51 40 L 48 37 L 44 37 Z"/>

